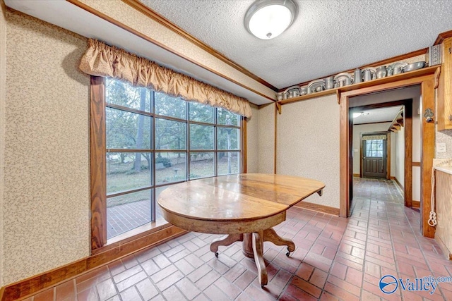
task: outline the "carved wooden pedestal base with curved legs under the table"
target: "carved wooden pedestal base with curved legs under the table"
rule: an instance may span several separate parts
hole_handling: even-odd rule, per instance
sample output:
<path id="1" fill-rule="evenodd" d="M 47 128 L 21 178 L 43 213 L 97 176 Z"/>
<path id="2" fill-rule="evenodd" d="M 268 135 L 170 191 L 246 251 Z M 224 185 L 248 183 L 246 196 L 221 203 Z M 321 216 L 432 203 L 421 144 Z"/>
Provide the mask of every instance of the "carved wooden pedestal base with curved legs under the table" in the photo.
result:
<path id="1" fill-rule="evenodd" d="M 254 258 L 258 271 L 259 283 L 261 283 L 262 287 L 268 283 L 266 264 L 263 261 L 263 242 L 269 241 L 273 242 L 275 245 L 287 245 L 287 256 L 290 255 L 290 252 L 295 251 L 295 243 L 292 242 L 292 240 L 280 237 L 273 228 L 254 233 L 226 235 L 222 238 L 213 240 L 212 244 L 210 244 L 210 251 L 215 252 L 215 256 L 218 257 L 218 247 L 220 245 L 227 246 L 231 245 L 232 242 L 237 241 L 243 241 L 243 254 L 246 257 Z"/>

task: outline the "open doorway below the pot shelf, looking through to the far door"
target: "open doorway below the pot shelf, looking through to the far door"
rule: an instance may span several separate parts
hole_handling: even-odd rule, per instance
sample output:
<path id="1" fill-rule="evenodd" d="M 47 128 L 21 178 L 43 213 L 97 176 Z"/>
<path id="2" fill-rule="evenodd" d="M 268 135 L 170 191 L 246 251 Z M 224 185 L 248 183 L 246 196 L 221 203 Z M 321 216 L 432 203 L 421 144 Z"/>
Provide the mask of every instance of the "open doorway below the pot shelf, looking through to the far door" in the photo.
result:
<path id="1" fill-rule="evenodd" d="M 405 206 L 412 207 L 412 107 L 413 99 L 419 104 L 420 93 L 417 86 L 350 98 L 349 115 L 357 116 L 350 118 L 349 126 L 350 213 L 355 204 L 353 177 L 394 180 L 401 190 Z M 391 101 L 402 97 L 412 98 Z M 402 121 L 398 121 L 400 117 Z M 403 123 L 397 134 L 391 132 L 395 121 Z M 397 148 L 403 153 L 396 152 Z M 383 149 L 385 154 L 382 154 Z M 366 160 L 368 156 L 371 157 L 369 161 Z"/>

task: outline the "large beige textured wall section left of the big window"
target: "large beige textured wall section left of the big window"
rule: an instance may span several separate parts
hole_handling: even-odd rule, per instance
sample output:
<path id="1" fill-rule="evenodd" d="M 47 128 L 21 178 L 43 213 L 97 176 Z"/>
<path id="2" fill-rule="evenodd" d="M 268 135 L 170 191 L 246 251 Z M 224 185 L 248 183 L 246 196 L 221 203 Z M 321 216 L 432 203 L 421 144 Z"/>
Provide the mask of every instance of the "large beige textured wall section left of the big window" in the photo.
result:
<path id="1" fill-rule="evenodd" d="M 90 252 L 86 40 L 22 13 L 6 21 L 3 285 Z"/>

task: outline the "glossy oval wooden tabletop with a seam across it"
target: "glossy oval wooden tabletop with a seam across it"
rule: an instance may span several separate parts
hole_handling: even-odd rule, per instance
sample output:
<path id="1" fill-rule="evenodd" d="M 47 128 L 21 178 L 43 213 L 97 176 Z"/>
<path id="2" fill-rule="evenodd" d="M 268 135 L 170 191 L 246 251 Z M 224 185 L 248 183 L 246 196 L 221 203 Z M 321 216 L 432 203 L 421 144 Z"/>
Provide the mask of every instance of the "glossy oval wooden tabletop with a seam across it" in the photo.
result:
<path id="1" fill-rule="evenodd" d="M 171 185 L 157 202 L 165 211 L 189 219 L 249 221 L 279 214 L 324 187 L 308 178 L 243 173 Z"/>

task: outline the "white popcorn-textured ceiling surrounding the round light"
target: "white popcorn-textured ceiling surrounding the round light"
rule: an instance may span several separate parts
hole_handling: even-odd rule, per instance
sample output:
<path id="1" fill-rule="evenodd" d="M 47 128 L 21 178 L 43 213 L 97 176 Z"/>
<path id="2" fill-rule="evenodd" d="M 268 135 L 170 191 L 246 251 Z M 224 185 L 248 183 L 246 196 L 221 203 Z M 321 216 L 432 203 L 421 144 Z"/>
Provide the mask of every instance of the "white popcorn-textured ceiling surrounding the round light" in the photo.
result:
<path id="1" fill-rule="evenodd" d="M 452 0 L 295 0 L 297 20 L 270 40 L 244 28 L 254 0 L 140 1 L 278 88 L 423 49 L 452 30 Z"/>

